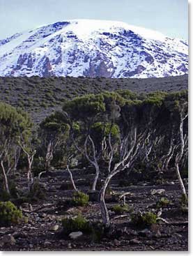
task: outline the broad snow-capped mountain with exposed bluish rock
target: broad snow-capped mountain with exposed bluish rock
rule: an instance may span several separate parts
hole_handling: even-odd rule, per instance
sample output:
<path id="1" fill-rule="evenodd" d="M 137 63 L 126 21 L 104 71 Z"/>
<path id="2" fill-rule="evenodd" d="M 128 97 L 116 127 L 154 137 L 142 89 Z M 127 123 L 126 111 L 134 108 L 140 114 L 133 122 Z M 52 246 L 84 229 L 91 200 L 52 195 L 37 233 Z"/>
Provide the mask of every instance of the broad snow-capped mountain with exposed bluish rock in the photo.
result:
<path id="1" fill-rule="evenodd" d="M 1 76 L 167 77 L 188 72 L 188 45 L 123 22 L 69 20 L 0 40 Z"/>

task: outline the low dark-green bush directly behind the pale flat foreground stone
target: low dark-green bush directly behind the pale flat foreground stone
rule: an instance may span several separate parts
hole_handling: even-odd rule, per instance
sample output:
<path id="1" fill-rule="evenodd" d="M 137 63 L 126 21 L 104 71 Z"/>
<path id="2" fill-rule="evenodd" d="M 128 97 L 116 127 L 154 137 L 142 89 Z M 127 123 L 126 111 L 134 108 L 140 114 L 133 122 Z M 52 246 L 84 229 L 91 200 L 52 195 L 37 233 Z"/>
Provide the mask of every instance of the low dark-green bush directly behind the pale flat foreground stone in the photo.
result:
<path id="1" fill-rule="evenodd" d="M 81 214 L 77 218 L 63 218 L 62 220 L 63 234 L 68 235 L 71 232 L 91 232 L 91 227 L 87 220 Z"/>

